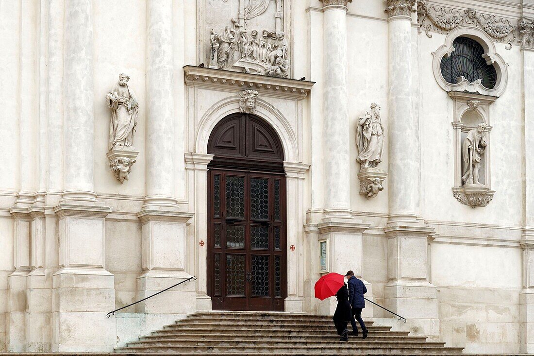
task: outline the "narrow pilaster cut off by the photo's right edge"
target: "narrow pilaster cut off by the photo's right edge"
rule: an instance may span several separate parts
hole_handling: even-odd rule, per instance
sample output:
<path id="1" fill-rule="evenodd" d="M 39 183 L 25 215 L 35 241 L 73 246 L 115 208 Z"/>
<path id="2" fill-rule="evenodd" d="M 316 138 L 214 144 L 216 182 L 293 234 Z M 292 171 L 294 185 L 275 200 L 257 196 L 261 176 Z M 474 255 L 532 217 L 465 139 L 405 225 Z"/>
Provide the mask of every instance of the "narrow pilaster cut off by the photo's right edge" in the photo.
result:
<path id="1" fill-rule="evenodd" d="M 523 119 L 524 119 L 524 199 L 523 199 L 523 290 L 519 295 L 520 352 L 534 353 L 534 22 L 524 19 L 520 24 L 521 56 L 523 60 Z M 519 41 L 518 41 L 519 42 Z"/>

